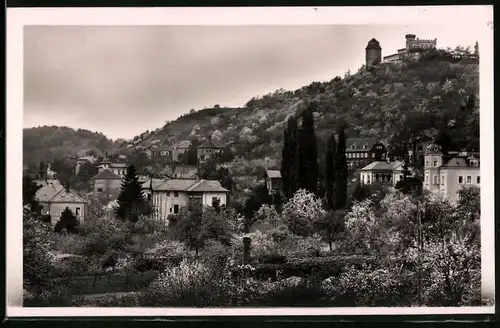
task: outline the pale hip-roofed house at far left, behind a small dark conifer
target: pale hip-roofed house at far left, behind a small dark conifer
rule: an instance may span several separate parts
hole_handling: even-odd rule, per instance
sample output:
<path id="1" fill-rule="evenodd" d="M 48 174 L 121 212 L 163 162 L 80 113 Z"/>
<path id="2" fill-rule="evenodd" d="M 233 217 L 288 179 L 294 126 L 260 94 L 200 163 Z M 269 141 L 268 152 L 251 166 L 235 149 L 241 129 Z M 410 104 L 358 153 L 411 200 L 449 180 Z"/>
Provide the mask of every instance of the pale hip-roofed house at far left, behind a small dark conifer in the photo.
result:
<path id="1" fill-rule="evenodd" d="M 87 201 L 69 187 L 47 182 L 36 191 L 35 197 L 42 206 L 42 214 L 50 215 L 50 223 L 53 226 L 66 208 L 69 208 L 80 222 L 84 221 Z"/>

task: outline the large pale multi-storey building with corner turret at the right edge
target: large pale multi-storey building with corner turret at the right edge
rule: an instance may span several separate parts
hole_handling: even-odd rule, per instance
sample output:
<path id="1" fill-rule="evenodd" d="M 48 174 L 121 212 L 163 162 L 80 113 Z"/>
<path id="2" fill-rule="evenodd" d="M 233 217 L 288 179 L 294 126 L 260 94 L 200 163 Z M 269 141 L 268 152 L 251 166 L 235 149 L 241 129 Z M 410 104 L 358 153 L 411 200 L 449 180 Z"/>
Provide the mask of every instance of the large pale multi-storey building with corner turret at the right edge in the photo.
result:
<path id="1" fill-rule="evenodd" d="M 424 189 L 441 192 L 452 203 L 460 200 L 462 188 L 480 187 L 479 156 L 463 152 L 446 157 L 432 143 L 425 150 L 424 161 Z"/>

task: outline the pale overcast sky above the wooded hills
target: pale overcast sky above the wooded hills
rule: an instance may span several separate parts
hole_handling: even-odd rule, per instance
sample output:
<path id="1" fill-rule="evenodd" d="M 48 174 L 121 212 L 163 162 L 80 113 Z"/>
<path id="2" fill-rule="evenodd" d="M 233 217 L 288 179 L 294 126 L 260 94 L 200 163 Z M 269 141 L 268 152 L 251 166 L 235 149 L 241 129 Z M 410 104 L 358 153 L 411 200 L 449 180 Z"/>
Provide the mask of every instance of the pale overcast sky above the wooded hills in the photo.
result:
<path id="1" fill-rule="evenodd" d="M 356 72 L 376 38 L 386 56 L 404 36 L 473 46 L 477 31 L 440 26 L 27 26 L 24 127 L 65 125 L 131 138 L 191 108 Z"/>

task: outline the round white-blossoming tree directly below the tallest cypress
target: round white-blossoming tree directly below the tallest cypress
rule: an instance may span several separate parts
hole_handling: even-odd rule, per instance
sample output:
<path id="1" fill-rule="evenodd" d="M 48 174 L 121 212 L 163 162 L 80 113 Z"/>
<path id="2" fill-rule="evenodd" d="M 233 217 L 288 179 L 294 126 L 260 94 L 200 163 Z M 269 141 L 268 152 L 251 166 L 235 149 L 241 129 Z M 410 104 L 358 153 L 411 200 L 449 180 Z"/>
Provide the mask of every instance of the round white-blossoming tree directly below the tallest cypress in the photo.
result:
<path id="1" fill-rule="evenodd" d="M 283 218 L 288 228 L 302 236 L 310 235 L 316 220 L 325 214 L 321 199 L 304 189 L 299 189 L 283 206 Z"/>

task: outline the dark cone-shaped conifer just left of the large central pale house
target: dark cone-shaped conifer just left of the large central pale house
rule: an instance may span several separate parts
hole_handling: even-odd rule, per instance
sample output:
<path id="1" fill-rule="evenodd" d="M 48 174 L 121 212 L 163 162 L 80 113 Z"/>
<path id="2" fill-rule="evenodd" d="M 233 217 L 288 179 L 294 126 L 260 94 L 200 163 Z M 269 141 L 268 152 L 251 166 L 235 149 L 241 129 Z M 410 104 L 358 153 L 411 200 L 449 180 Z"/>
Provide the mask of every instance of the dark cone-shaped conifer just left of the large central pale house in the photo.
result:
<path id="1" fill-rule="evenodd" d="M 122 181 L 122 188 L 118 196 L 118 208 L 116 216 L 122 220 L 137 222 L 139 215 L 147 210 L 142 193 L 139 177 L 136 174 L 135 166 L 129 165 L 127 173 Z"/>

